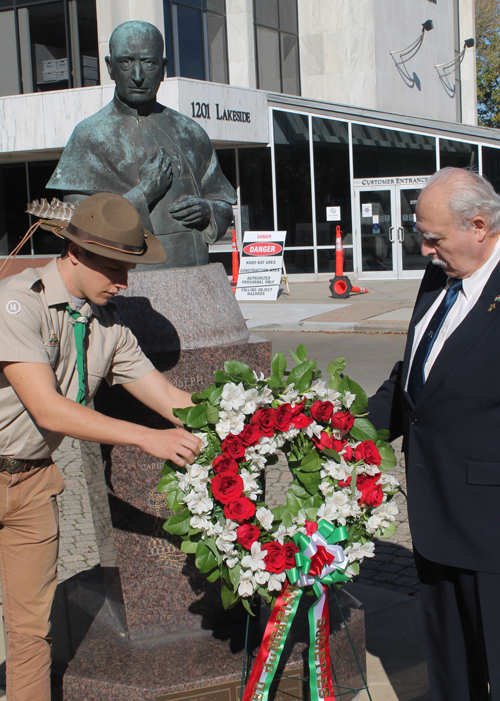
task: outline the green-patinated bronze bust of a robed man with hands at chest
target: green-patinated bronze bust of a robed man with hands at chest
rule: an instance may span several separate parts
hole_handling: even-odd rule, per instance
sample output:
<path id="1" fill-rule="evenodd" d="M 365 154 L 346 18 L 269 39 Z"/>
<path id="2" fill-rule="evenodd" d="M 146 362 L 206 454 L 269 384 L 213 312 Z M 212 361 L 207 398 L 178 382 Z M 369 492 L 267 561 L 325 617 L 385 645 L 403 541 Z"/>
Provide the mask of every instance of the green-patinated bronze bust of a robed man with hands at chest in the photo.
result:
<path id="1" fill-rule="evenodd" d="M 96 192 L 124 195 L 167 252 L 157 267 L 206 265 L 208 244 L 232 220 L 236 193 L 206 132 L 156 101 L 167 65 L 159 30 L 124 22 L 109 52 L 114 98 L 77 124 L 47 188 L 63 190 L 74 203 Z"/>

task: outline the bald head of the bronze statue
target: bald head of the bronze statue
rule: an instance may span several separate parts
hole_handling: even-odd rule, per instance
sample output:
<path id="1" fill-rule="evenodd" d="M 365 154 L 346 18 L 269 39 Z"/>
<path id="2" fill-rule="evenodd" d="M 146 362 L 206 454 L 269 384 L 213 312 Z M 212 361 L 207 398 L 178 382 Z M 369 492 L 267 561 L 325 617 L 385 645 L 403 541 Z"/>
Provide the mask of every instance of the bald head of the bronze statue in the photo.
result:
<path id="1" fill-rule="evenodd" d="M 123 102 L 136 108 L 151 103 L 167 68 L 161 32 L 149 22 L 123 22 L 109 39 L 106 65 Z"/>

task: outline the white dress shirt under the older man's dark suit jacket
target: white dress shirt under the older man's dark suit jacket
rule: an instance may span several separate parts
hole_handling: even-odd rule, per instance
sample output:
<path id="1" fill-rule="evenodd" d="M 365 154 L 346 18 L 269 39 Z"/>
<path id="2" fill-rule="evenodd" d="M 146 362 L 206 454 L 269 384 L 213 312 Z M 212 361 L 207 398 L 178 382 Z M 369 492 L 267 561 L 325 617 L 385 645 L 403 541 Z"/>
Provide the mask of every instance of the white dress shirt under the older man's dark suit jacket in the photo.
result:
<path id="1" fill-rule="evenodd" d="M 427 362 L 425 363 L 424 367 L 424 377 L 427 380 L 427 377 L 431 371 L 432 366 L 434 365 L 436 358 L 440 354 L 445 341 L 451 336 L 451 334 L 455 331 L 456 328 L 462 323 L 462 321 L 465 319 L 467 314 L 470 312 L 472 307 L 476 304 L 477 300 L 481 296 L 481 293 L 484 289 L 484 286 L 489 280 L 489 277 L 493 270 L 496 268 L 498 262 L 500 261 L 500 238 L 497 240 L 495 247 L 491 253 L 491 256 L 488 258 L 486 263 L 484 263 L 478 270 L 476 270 L 475 273 L 472 273 L 472 275 L 468 278 L 465 278 L 462 281 L 463 284 L 463 289 L 458 293 L 458 297 L 455 300 L 454 305 L 448 312 L 448 315 L 446 316 L 443 325 L 441 326 L 441 329 L 439 331 L 438 337 L 434 341 L 434 344 L 431 348 L 431 352 L 429 353 L 429 357 L 427 358 Z M 434 312 L 437 310 L 439 305 L 444 299 L 444 296 L 448 290 L 448 287 L 450 283 L 452 283 L 456 278 L 448 278 L 446 286 L 444 287 L 443 291 L 441 294 L 438 295 L 436 298 L 436 301 L 434 304 L 432 304 L 427 312 L 424 314 L 424 316 L 420 319 L 418 324 L 415 327 L 415 337 L 413 339 L 413 346 L 411 349 L 411 356 L 410 356 L 410 365 L 409 365 L 409 370 L 411 370 L 411 366 L 413 363 L 413 357 L 415 355 L 415 351 L 418 348 L 418 345 L 420 341 L 422 340 L 422 336 L 425 333 L 425 330 L 427 329 L 427 326 L 429 325 L 430 320 L 432 319 Z M 500 294 L 500 290 L 498 290 Z M 490 300 L 490 303 L 492 303 L 494 300 L 493 298 Z M 409 375 L 409 371 L 408 371 Z M 406 384 L 405 384 L 405 389 L 408 389 L 408 377 L 406 378 Z"/>

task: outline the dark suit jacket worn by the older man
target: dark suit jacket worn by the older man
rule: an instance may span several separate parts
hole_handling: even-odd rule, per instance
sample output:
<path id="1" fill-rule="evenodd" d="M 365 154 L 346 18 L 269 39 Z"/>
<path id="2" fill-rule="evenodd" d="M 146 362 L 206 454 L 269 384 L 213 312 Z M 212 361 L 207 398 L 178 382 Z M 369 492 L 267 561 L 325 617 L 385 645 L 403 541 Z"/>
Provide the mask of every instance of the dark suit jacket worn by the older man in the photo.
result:
<path id="1" fill-rule="evenodd" d="M 500 574 L 500 264 L 447 339 L 414 405 L 404 391 L 415 325 L 446 284 L 429 264 L 405 357 L 370 399 L 377 429 L 403 435 L 413 542 L 429 560 Z"/>

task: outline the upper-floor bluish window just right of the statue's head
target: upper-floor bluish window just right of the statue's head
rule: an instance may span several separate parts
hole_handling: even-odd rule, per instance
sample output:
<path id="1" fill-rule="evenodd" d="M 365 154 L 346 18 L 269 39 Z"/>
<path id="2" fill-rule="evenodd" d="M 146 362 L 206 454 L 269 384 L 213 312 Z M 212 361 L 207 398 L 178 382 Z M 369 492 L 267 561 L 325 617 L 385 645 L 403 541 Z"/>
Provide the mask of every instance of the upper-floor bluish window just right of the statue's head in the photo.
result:
<path id="1" fill-rule="evenodd" d="M 163 0 L 167 75 L 229 82 L 225 0 Z"/>

